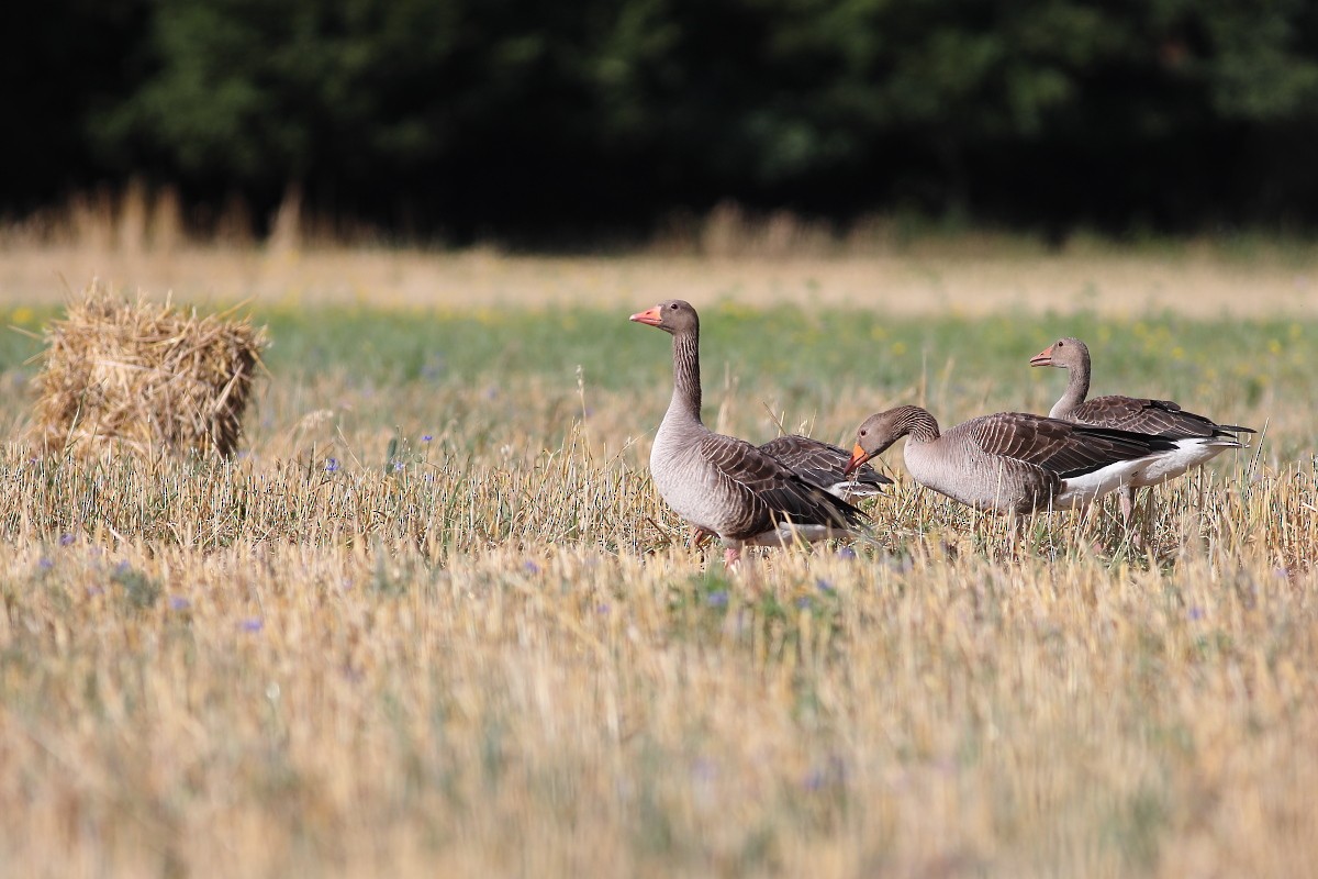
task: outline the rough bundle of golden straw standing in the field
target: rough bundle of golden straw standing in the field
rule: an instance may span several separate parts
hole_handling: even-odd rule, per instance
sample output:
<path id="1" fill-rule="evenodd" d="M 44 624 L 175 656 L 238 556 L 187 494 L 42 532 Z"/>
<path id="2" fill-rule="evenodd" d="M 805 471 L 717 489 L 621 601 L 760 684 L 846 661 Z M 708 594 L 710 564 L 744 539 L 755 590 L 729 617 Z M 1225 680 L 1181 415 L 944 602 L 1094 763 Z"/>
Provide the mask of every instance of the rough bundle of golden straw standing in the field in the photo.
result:
<path id="1" fill-rule="evenodd" d="M 266 336 L 250 319 L 130 302 L 94 281 L 46 341 L 36 432 L 47 448 L 229 456 Z"/>

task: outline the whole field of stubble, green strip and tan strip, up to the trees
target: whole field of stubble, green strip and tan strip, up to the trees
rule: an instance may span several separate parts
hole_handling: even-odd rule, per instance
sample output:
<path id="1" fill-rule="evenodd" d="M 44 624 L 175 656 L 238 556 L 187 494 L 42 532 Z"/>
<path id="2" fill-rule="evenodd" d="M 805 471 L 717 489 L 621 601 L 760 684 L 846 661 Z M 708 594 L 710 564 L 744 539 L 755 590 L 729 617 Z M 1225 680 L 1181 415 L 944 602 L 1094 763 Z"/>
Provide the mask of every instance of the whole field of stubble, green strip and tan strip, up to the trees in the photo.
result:
<path id="1" fill-rule="evenodd" d="M 850 261 L 9 253 L 250 299 L 232 463 L 42 456 L 0 341 L 0 863 L 18 875 L 1305 875 L 1318 859 L 1311 256 Z M 279 262 L 282 260 L 282 262 Z M 326 266 L 336 266 L 327 270 Z M 941 294 L 938 293 L 941 290 Z M 1260 430 L 1140 505 L 1010 522 L 904 477 L 851 547 L 684 546 L 646 472 L 668 337 L 705 418 L 1095 393 Z"/>

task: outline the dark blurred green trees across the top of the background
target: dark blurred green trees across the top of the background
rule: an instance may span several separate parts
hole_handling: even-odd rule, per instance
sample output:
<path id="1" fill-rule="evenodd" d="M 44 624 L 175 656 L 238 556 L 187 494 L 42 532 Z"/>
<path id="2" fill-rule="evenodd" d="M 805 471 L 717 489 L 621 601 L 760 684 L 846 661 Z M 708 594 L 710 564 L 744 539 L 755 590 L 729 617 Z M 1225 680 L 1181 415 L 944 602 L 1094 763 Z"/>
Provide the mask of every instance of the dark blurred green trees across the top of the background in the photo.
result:
<path id="1" fill-rule="evenodd" d="M 409 235 L 643 235 L 722 199 L 1311 231 L 1306 0 L 5 4 L 0 212 L 132 177 Z"/>

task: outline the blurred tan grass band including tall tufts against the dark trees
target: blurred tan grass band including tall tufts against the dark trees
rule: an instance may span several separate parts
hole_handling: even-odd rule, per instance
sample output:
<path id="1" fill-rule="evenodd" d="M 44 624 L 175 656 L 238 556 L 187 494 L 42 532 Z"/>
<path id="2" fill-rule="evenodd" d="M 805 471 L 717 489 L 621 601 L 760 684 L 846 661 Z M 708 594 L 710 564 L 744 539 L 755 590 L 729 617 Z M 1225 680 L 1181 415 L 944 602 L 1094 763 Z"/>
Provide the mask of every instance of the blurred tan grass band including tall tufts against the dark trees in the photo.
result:
<path id="1" fill-rule="evenodd" d="M 62 295 L 61 278 L 173 290 L 202 303 L 252 299 L 303 307 L 626 307 L 680 294 L 755 306 L 807 302 L 894 315 L 1077 310 L 1133 318 L 1318 314 L 1318 246 L 1259 236 L 1118 246 L 1086 235 L 1045 248 L 1024 235 L 940 233 L 900 217 L 847 228 L 735 203 L 677 216 L 648 254 L 597 258 L 381 246 L 377 232 L 308 215 L 297 187 L 256 245 L 241 200 L 185 217 L 170 187 L 98 190 L 0 225 L 0 303 Z M 344 244 L 347 242 L 347 245 Z"/>

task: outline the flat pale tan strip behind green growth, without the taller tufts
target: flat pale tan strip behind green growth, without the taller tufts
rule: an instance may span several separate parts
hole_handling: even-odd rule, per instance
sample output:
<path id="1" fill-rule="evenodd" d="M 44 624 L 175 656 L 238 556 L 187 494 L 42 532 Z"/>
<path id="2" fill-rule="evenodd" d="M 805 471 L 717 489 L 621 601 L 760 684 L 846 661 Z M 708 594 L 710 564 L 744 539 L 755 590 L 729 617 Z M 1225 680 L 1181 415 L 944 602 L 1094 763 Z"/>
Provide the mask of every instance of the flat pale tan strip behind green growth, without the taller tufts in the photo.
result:
<path id="1" fill-rule="evenodd" d="M 1318 250 L 1219 245 L 1148 252 L 1077 245 L 1006 253 L 995 242 L 929 242 L 842 256 L 764 260 L 695 256 L 519 257 L 493 250 L 169 252 L 0 248 L 0 303 L 65 295 L 59 278 L 99 275 L 123 289 L 173 290 L 181 300 L 469 308 L 552 304 L 633 307 L 683 295 L 754 306 L 812 303 L 891 315 L 992 315 L 1077 310 L 1136 318 L 1170 310 L 1199 318 L 1314 316 Z"/>

